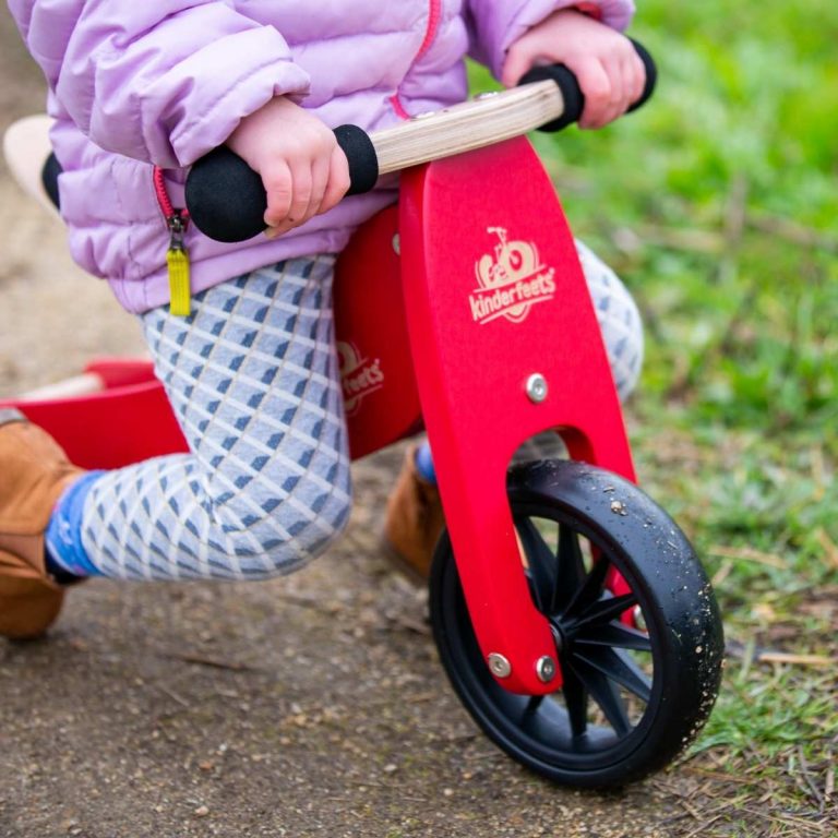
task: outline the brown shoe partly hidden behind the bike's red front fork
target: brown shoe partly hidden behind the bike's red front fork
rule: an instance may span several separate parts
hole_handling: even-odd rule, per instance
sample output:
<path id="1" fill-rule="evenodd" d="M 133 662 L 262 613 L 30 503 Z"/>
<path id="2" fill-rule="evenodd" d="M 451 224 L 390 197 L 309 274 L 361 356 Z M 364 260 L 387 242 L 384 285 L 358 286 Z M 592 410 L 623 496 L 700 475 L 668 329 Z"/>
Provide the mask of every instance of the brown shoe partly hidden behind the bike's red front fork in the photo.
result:
<path id="1" fill-rule="evenodd" d="M 405 453 L 396 488 L 387 501 L 384 547 L 414 582 L 428 580 L 436 541 L 445 526 L 440 492 L 416 468 L 416 445 Z"/>

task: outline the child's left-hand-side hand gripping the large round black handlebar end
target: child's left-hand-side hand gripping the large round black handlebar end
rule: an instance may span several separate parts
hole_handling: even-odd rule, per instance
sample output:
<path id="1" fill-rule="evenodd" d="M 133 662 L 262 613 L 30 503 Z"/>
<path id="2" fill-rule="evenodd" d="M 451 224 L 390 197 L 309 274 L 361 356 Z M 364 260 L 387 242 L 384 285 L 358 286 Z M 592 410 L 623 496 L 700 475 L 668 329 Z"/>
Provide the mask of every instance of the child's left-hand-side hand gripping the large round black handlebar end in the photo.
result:
<path id="1" fill-rule="evenodd" d="M 335 135 L 284 96 L 244 117 L 227 146 L 262 176 L 270 239 L 331 210 L 349 189 L 349 165 Z"/>

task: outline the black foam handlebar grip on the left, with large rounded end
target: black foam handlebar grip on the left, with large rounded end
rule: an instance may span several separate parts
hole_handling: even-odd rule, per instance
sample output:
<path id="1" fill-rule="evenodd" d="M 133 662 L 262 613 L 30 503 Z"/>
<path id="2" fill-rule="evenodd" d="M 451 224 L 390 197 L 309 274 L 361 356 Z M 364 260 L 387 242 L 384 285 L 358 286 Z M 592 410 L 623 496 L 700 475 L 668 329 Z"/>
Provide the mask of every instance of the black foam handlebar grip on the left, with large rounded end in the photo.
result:
<path id="1" fill-rule="evenodd" d="M 369 192 L 379 179 L 375 147 L 357 125 L 335 129 L 349 160 L 347 194 Z M 265 229 L 267 196 L 262 178 L 227 146 L 197 160 L 187 178 L 187 207 L 192 223 L 215 241 L 246 241 Z"/>

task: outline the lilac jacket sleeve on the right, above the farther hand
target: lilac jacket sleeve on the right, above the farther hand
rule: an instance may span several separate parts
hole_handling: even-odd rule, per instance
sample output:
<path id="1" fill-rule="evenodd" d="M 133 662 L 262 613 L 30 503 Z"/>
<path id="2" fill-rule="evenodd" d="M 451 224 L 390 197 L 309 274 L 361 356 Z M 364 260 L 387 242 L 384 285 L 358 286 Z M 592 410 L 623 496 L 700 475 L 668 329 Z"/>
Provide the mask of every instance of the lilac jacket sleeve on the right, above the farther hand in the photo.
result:
<path id="1" fill-rule="evenodd" d="M 506 50 L 560 9 L 578 7 L 621 32 L 634 16 L 633 0 L 466 0 L 469 55 L 500 77 Z"/>

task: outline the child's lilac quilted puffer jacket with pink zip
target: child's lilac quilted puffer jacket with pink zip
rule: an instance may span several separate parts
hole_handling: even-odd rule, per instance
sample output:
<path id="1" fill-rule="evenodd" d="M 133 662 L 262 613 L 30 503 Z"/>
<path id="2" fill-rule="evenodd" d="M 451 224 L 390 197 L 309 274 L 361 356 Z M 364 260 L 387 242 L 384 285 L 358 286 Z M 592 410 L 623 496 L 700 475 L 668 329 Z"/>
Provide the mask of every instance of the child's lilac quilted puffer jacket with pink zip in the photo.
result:
<path id="1" fill-rule="evenodd" d="M 183 204 L 185 167 L 289 94 L 330 127 L 374 131 L 466 96 L 469 53 L 500 74 L 508 46 L 576 0 L 9 0 L 50 87 L 61 212 L 74 259 L 130 311 L 168 302 L 169 237 L 153 183 Z M 599 0 L 624 28 L 632 0 Z M 588 3 L 590 5 L 590 3 Z M 192 289 L 290 256 L 339 252 L 392 190 L 344 200 L 268 241 L 191 228 Z"/>

